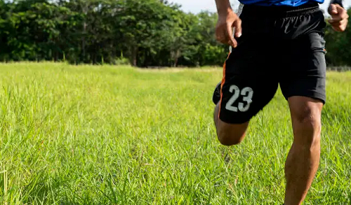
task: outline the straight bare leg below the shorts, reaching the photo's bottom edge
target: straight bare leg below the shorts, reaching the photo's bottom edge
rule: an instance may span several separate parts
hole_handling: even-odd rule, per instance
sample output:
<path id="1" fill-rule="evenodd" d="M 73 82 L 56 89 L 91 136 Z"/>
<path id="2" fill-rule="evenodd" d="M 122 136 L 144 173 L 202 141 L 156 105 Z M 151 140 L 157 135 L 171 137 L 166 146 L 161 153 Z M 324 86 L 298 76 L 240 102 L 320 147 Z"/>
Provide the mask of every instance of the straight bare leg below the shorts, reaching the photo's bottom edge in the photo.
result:
<path id="1" fill-rule="evenodd" d="M 308 97 L 291 97 L 289 106 L 294 137 L 285 165 L 285 205 L 300 205 L 319 166 L 323 104 Z"/>

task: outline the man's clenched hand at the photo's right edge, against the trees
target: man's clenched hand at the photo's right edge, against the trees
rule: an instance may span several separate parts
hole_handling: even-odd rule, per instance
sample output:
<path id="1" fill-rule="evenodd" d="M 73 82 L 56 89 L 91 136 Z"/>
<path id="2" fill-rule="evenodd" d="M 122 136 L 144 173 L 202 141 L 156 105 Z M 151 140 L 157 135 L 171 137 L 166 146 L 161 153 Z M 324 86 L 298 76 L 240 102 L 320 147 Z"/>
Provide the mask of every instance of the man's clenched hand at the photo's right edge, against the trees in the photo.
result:
<path id="1" fill-rule="evenodd" d="M 349 18 L 346 9 L 339 4 L 332 3 L 331 6 L 329 6 L 328 12 L 331 15 L 331 20 L 329 20 L 331 27 L 339 32 L 345 31 Z"/>

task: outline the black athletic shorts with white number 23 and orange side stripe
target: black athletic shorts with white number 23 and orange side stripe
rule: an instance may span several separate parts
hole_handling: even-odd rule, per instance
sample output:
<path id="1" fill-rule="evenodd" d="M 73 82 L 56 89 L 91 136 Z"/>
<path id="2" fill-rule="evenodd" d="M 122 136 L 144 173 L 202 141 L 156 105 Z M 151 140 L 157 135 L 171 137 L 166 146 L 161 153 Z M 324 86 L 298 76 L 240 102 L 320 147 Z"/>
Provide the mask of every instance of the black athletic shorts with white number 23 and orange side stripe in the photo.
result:
<path id="1" fill-rule="evenodd" d="M 242 35 L 225 61 L 219 118 L 248 122 L 280 85 L 284 97 L 325 104 L 324 15 L 318 4 L 297 8 L 244 6 Z"/>

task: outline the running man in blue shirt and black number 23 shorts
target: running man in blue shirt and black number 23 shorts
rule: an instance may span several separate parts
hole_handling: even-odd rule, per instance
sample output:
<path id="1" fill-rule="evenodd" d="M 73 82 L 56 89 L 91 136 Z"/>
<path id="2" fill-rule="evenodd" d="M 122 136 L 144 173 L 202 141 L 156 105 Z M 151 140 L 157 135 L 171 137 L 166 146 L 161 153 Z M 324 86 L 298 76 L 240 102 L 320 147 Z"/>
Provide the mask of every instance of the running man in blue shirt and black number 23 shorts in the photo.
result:
<path id="1" fill-rule="evenodd" d="M 286 160 L 285 205 L 302 204 L 319 167 L 321 112 L 326 101 L 324 0 L 239 0 L 240 17 L 229 0 L 216 0 L 216 37 L 232 46 L 223 80 L 213 94 L 220 143 L 233 146 L 249 121 L 280 85 L 289 102 L 293 145 Z M 342 0 L 329 6 L 329 23 L 345 31 Z M 234 28 L 234 34 L 232 29 Z"/>

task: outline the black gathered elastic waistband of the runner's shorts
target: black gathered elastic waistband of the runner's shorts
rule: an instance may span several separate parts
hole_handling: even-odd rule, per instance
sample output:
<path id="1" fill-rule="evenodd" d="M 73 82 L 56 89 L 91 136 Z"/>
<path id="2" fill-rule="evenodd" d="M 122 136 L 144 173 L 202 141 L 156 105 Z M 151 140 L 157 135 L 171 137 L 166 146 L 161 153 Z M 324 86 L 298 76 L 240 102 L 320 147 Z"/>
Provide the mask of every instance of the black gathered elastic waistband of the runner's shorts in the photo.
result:
<path id="1" fill-rule="evenodd" d="M 244 5 L 242 13 L 262 17 L 293 17 L 319 11 L 318 3 L 308 3 L 302 6 L 256 6 Z"/>

